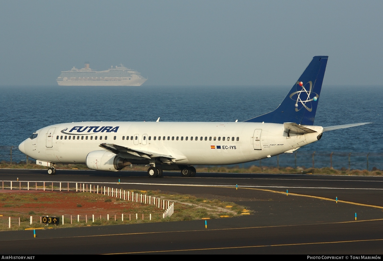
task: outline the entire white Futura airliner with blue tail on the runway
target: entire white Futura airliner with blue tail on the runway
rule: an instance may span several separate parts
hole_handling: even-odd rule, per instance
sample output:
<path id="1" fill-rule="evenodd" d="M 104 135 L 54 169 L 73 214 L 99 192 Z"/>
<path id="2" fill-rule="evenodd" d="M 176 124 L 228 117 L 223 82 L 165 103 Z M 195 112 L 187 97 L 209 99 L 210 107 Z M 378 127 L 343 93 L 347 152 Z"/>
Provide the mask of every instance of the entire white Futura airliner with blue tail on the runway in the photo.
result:
<path id="1" fill-rule="evenodd" d="M 56 173 L 56 163 L 85 163 L 118 171 L 146 164 L 150 177 L 163 170 L 195 176 L 191 165 L 229 165 L 270 158 L 315 142 L 331 127 L 314 126 L 327 56 L 315 56 L 274 111 L 244 122 L 71 122 L 34 132 L 19 149 Z M 244 97 L 245 98 L 245 97 Z"/>

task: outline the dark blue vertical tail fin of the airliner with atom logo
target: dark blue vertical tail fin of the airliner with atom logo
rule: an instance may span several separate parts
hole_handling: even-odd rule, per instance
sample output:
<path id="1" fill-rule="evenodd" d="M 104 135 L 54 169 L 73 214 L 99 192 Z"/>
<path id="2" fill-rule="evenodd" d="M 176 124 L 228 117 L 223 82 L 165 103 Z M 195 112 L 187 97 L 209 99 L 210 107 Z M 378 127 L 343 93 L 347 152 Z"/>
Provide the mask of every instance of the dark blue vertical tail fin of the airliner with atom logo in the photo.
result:
<path id="1" fill-rule="evenodd" d="M 327 59 L 328 56 L 314 56 L 277 109 L 245 122 L 314 125 Z"/>

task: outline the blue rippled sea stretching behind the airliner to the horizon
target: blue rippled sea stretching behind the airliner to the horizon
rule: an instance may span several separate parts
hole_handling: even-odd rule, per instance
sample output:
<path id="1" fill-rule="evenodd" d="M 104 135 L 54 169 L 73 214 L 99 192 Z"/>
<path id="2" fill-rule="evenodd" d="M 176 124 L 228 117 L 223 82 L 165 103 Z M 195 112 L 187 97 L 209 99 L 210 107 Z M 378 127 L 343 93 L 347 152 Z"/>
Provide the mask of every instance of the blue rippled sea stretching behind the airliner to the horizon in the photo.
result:
<path id="1" fill-rule="evenodd" d="M 26 160 L 18 144 L 51 124 L 77 121 L 244 121 L 277 108 L 291 86 L 0 86 L 0 161 Z M 383 86 L 323 86 L 315 125 L 373 122 L 325 132 L 300 148 L 298 166 L 382 169 Z M 277 157 L 262 160 L 277 166 Z M 245 166 L 259 165 L 259 161 Z M 280 166 L 295 166 L 295 153 L 279 156 Z"/>

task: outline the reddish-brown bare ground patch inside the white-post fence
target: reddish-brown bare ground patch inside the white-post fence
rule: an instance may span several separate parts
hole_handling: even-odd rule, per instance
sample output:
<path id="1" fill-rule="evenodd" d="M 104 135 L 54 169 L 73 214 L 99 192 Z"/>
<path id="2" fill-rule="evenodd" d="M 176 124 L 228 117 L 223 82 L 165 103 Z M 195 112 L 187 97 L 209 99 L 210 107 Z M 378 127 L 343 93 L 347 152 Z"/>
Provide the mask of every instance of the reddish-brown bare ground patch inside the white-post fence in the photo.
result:
<path id="1" fill-rule="evenodd" d="M 123 201 L 116 197 L 104 196 L 90 192 L 59 192 L 41 190 L 0 189 L 0 214 L 28 215 L 34 211 L 36 215 L 114 215 L 161 214 L 164 210 L 154 205 L 139 202 Z M 105 202 L 111 199 L 111 202 Z M 140 216 L 139 216 L 140 217 Z M 110 217 L 111 218 L 111 217 Z M 141 217 L 142 218 L 142 217 Z"/>

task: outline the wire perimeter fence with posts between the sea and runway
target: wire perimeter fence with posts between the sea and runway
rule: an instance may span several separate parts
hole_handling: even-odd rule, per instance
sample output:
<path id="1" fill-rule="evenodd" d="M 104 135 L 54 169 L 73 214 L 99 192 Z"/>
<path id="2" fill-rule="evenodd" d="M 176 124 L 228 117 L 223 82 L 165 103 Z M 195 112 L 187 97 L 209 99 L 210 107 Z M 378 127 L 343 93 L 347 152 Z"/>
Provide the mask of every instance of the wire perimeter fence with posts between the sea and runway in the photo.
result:
<path id="1" fill-rule="evenodd" d="M 334 168 L 337 170 L 383 170 L 383 153 L 378 152 L 339 152 L 339 151 L 309 151 L 297 150 L 293 153 L 282 153 L 278 156 L 263 160 L 239 164 L 248 168 L 255 166 L 291 167 L 291 168 Z M 17 146 L 0 146 L 0 162 L 7 163 L 36 163 L 36 160 L 26 157 Z M 238 165 L 236 165 L 238 166 Z M 375 170 L 375 169 L 374 169 Z"/>

